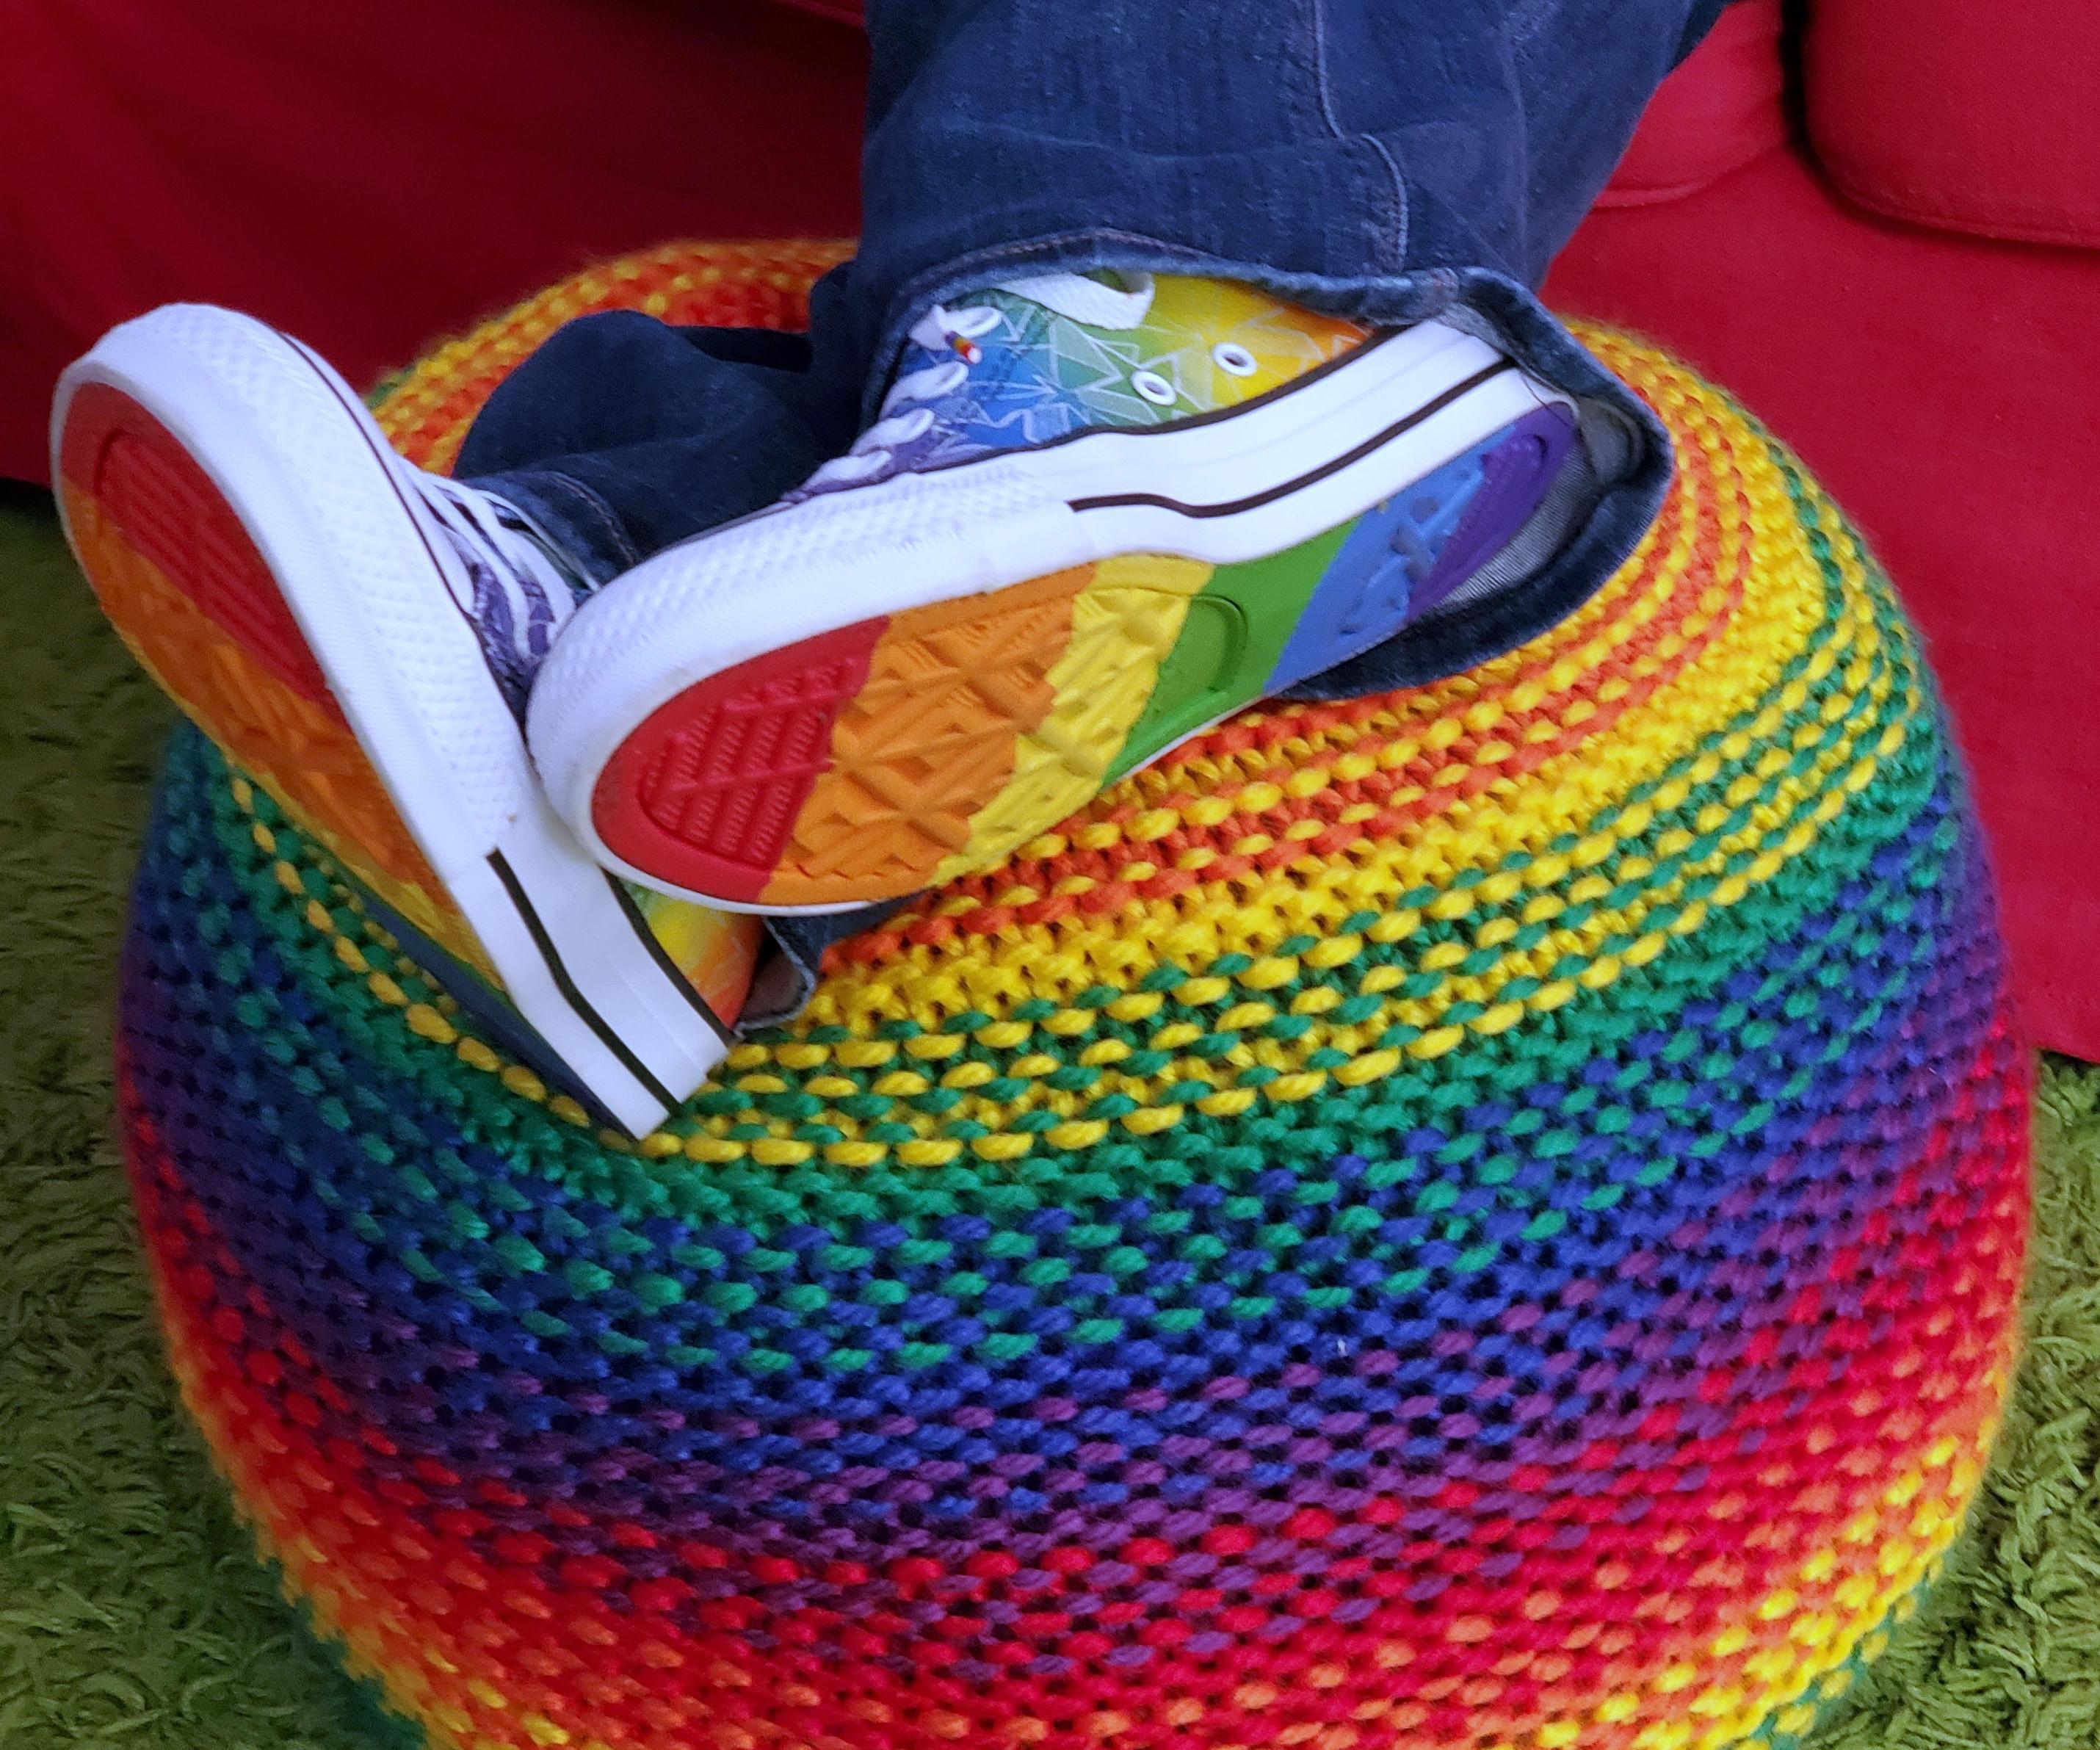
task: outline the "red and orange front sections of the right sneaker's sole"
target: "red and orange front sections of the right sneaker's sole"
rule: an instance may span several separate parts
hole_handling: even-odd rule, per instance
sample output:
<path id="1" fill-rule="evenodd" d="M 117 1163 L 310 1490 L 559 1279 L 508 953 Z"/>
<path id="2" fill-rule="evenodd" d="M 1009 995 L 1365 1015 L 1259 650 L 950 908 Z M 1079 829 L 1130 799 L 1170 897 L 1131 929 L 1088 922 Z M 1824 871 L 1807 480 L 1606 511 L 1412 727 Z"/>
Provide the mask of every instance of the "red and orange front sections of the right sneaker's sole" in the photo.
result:
<path id="1" fill-rule="evenodd" d="M 613 855 L 733 903 L 926 887 L 1054 704 L 1090 567 L 863 620 L 687 687 L 592 790 Z"/>

